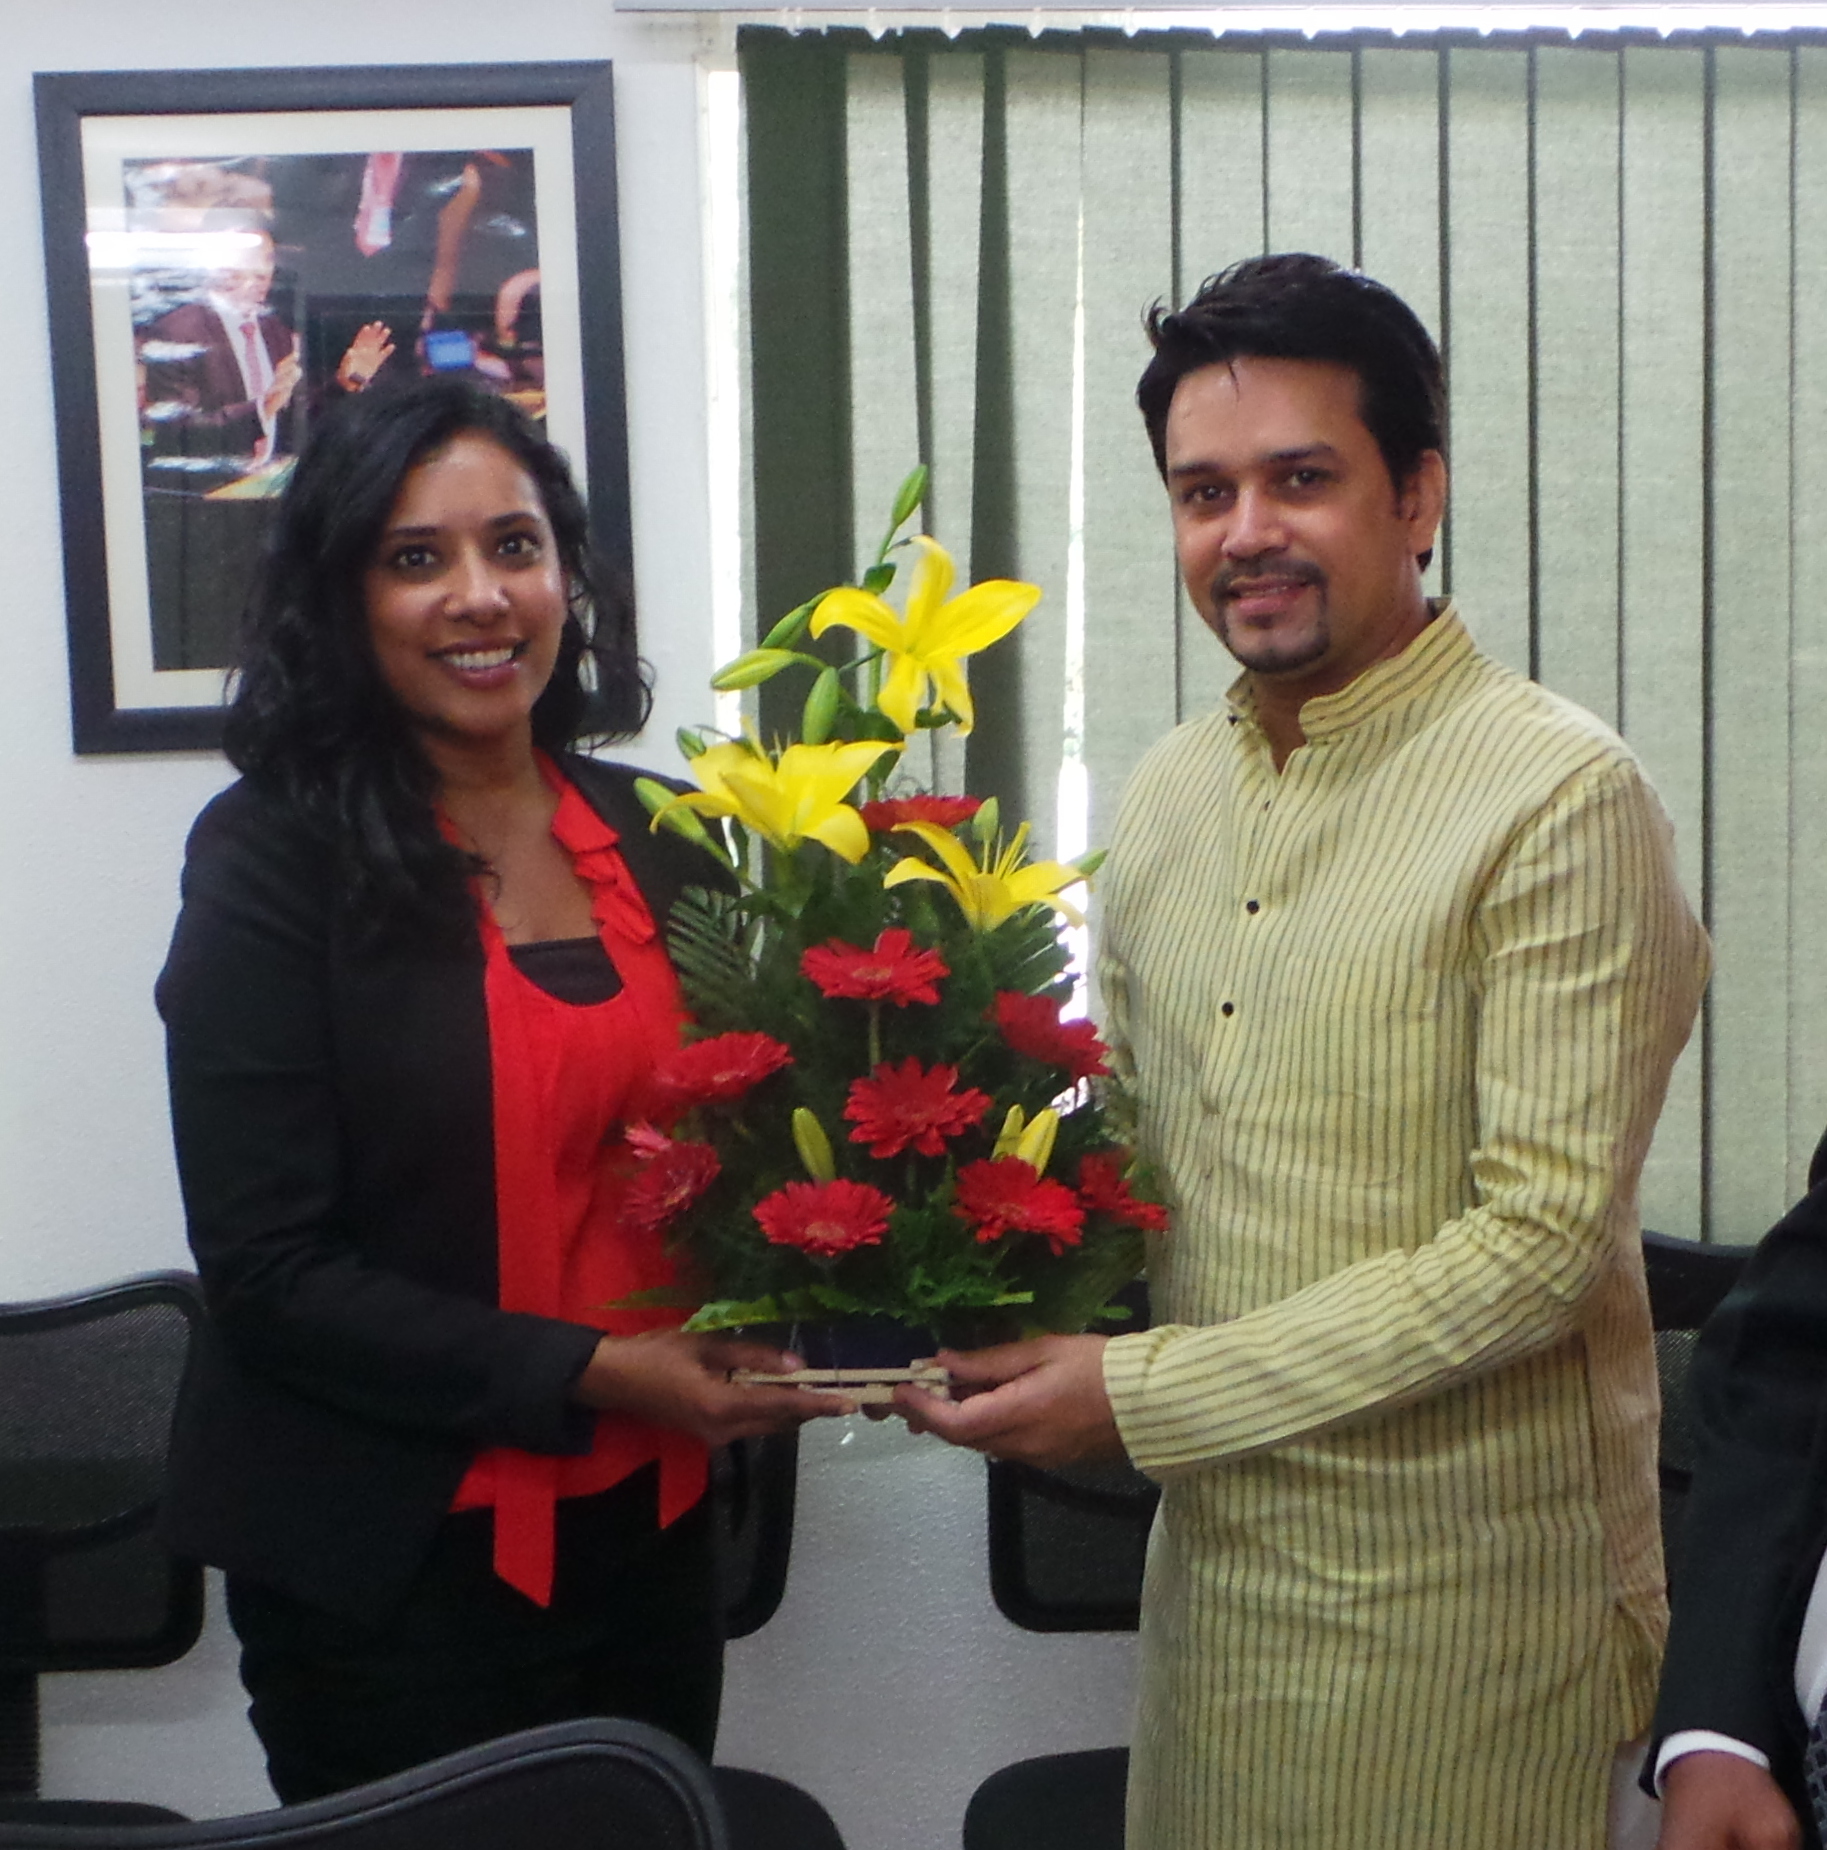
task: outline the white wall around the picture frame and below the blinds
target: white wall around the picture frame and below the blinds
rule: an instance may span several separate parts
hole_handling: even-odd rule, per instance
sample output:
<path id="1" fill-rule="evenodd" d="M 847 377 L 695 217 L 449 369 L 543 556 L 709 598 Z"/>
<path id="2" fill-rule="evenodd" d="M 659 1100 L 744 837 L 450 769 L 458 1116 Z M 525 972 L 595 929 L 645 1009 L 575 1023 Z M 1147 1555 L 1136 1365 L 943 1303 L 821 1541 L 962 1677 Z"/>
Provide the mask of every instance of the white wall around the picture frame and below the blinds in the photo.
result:
<path id="1" fill-rule="evenodd" d="M 6 7 L 0 33 L 0 1297 L 185 1264 L 152 979 L 211 755 L 76 758 L 39 250 L 31 72 L 231 61 L 220 6 Z M 586 0 L 313 0 L 237 15 L 233 63 L 616 61 L 636 577 L 660 699 L 644 747 L 671 758 L 706 714 L 708 535 L 699 265 L 699 28 Z M 806 1447 L 780 1617 L 734 1646 L 723 1758 L 779 1770 L 838 1815 L 851 1850 L 958 1841 L 971 1787 L 1026 1754 L 1124 1737 L 1132 1646 L 1039 1639 L 991 1608 L 982 1471 L 891 1428 Z M 270 1804 L 240 1719 L 233 1641 L 159 1672 L 46 1680 L 46 1793 L 142 1796 L 194 1817 Z"/>

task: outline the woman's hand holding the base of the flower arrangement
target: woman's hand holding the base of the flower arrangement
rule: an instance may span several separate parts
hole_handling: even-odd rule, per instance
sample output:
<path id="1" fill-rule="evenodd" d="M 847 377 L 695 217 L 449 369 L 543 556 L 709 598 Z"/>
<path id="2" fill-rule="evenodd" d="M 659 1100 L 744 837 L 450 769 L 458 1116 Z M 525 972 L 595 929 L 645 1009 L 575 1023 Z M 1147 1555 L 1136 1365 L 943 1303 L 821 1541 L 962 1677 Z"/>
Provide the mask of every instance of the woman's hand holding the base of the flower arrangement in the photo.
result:
<path id="1" fill-rule="evenodd" d="M 729 1378 L 730 1369 L 791 1375 L 801 1367 L 799 1356 L 766 1343 L 651 1330 L 645 1336 L 605 1336 L 571 1393 L 584 1406 L 677 1426 L 706 1445 L 790 1432 L 808 1419 L 856 1412 L 856 1404 L 841 1395 L 804 1388 L 738 1388 Z"/>

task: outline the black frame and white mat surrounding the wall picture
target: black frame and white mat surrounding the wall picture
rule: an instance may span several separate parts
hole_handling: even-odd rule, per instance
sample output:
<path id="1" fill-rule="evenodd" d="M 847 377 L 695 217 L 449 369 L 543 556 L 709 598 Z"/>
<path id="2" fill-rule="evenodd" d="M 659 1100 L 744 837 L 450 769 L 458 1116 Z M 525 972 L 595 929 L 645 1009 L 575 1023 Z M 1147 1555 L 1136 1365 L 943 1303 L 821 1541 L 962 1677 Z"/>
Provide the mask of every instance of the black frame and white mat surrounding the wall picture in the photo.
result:
<path id="1" fill-rule="evenodd" d="M 614 568 L 631 574 L 608 61 L 39 72 L 33 91 L 70 642 L 70 727 L 78 753 L 209 749 L 220 744 L 222 731 L 220 666 L 211 662 L 176 675 L 159 670 L 146 566 L 141 566 L 135 586 L 131 572 L 124 572 L 120 562 L 135 557 L 135 549 L 141 561 L 150 553 L 146 492 L 139 487 L 129 492 L 120 466 L 124 446 L 139 451 L 150 442 L 142 416 L 148 368 L 133 344 L 131 320 L 120 322 L 128 329 L 126 355 L 115 353 L 118 327 L 111 331 L 105 314 L 104 344 L 98 346 L 96 302 L 104 298 L 96 283 L 100 270 L 91 265 L 91 231 L 98 222 L 92 213 L 111 205 L 122 224 L 128 216 L 120 204 L 126 198 L 122 187 L 115 189 L 113 202 L 91 198 L 89 179 L 96 170 L 96 142 L 85 141 L 91 131 L 128 137 L 122 144 L 142 148 L 131 161 L 122 159 L 122 168 L 165 157 L 161 137 L 166 131 L 174 137 L 166 154 L 194 159 L 190 150 L 207 144 L 215 128 L 226 133 L 239 124 L 246 124 L 246 144 L 239 144 L 242 157 L 274 152 L 261 146 L 264 137 L 285 142 L 279 159 L 290 150 L 307 157 L 355 157 L 361 150 L 390 148 L 386 135 L 407 137 L 407 144 L 416 148 L 514 148 L 518 157 L 523 133 L 544 137 L 542 146 L 525 150 L 525 163 L 529 174 L 534 168 L 540 174 L 534 250 L 542 272 L 540 383 L 547 427 L 570 451 L 573 466 L 582 464 L 597 549 Z M 375 130 L 375 111 L 388 115 L 386 133 Z M 477 120 L 473 111 L 490 115 Z M 560 111 L 562 120 L 551 111 Z M 364 113 L 362 124 L 355 124 L 355 113 Z M 266 118 L 270 130 L 259 118 Z M 558 176 L 566 124 L 570 165 L 568 174 Z M 501 133 L 483 139 L 484 128 L 499 128 Z M 573 250 L 575 270 L 570 266 Z M 300 327 L 294 352 L 303 348 Z M 449 353 L 449 348 L 440 352 Z M 141 381 L 137 388 L 135 374 Z M 122 398 L 129 401 L 122 403 Z M 111 433 L 107 440 L 105 431 Z M 133 466 L 128 459 L 126 468 Z M 131 479 L 137 485 L 141 477 Z M 133 520 L 141 522 L 137 538 L 124 531 Z M 128 672 L 124 662 L 144 662 L 146 672 L 139 666 Z M 213 694 L 205 697 L 211 675 Z M 183 697 L 174 697 L 174 692 Z"/>

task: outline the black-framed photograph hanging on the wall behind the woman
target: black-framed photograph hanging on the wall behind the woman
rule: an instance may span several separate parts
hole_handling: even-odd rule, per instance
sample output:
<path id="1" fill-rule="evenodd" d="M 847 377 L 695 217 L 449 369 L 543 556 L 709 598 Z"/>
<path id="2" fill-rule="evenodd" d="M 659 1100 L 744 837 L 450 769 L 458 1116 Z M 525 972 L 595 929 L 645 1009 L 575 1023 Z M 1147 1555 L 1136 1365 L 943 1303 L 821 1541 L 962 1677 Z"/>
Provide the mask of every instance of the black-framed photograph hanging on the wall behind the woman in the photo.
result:
<path id="1" fill-rule="evenodd" d="M 631 566 L 607 63 L 35 89 L 80 753 L 220 740 L 274 500 L 383 376 L 542 420 Z"/>

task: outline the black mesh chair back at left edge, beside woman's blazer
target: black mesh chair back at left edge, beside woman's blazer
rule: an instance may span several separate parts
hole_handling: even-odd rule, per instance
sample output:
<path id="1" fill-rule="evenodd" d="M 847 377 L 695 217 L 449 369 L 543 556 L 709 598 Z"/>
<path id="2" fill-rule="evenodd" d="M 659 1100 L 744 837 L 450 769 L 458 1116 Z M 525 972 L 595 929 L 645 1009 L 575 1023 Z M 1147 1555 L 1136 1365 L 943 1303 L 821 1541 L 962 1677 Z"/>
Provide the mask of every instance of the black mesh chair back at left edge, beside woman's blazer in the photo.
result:
<path id="1" fill-rule="evenodd" d="M 37 1791 L 37 1678 L 170 1663 L 203 1576 L 155 1530 L 202 1293 L 183 1273 L 0 1306 L 0 1794 Z"/>

